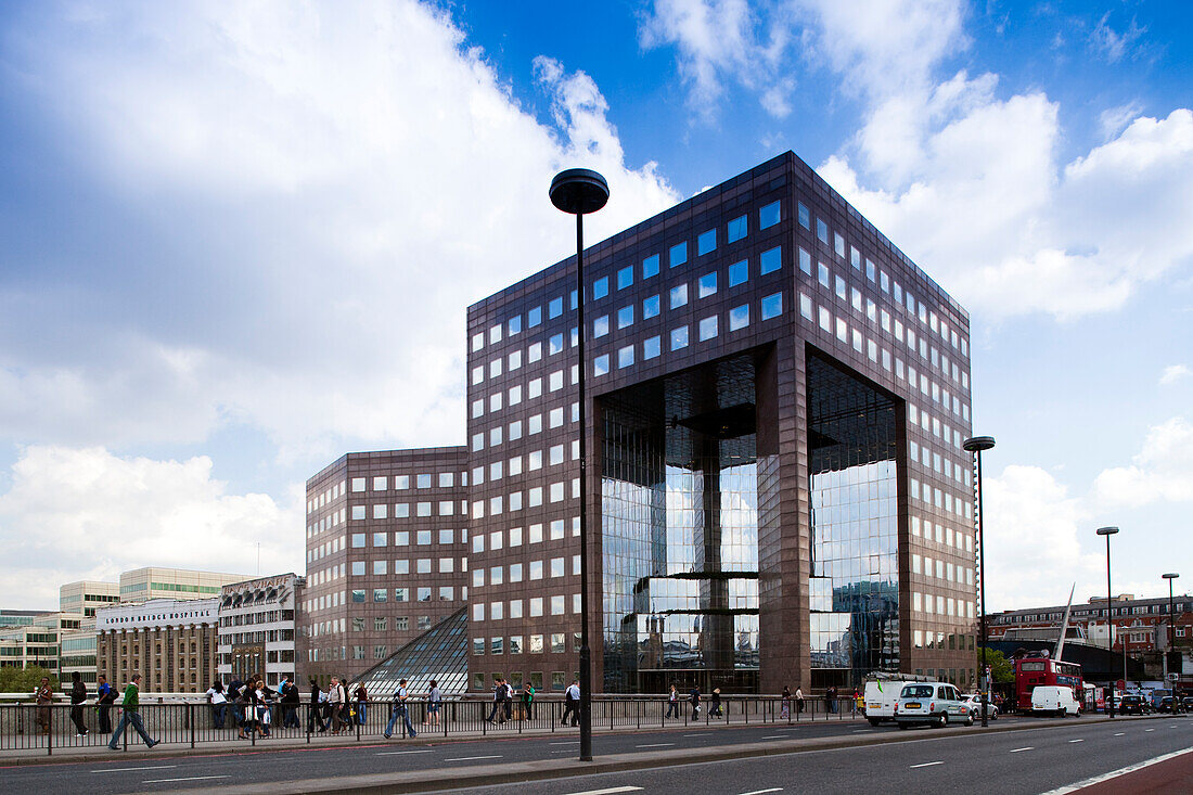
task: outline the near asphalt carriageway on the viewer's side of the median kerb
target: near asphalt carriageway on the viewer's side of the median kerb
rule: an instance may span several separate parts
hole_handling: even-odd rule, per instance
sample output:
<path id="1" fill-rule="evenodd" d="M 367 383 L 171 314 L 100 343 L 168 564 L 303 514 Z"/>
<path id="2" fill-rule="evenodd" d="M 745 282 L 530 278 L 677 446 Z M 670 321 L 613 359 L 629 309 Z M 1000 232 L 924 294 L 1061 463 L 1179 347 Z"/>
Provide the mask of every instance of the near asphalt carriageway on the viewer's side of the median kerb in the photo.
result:
<path id="1" fill-rule="evenodd" d="M 655 768 L 561 781 L 478 787 L 469 795 L 595 795 L 595 793 L 696 793 L 762 795 L 769 793 L 964 793 L 1040 795 L 1099 774 L 1193 748 L 1193 720 L 1074 723 L 1022 732 L 976 735 L 934 734 L 896 742 L 775 757 Z M 1193 774 L 1193 754 L 1174 763 Z M 1158 765 L 1157 765 L 1158 766 Z M 1172 779 L 1172 776 L 1169 777 Z M 1123 779 L 1114 779 L 1123 781 Z M 1114 781 L 1107 782 L 1114 785 Z M 1180 789 L 1193 791 L 1191 778 Z M 1119 784 L 1111 791 L 1129 795 Z M 1057 794 L 1059 795 L 1059 794 Z"/>

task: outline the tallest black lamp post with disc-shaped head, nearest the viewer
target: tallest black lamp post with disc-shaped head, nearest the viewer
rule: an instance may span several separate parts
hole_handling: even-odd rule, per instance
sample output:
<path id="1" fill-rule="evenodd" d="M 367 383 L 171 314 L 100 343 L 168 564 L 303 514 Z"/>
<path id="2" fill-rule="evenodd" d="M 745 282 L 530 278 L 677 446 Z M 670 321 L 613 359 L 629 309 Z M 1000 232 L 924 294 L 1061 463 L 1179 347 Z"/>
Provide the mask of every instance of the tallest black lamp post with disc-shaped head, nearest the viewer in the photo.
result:
<path id="1" fill-rule="evenodd" d="M 585 214 L 608 202 L 608 183 L 589 168 L 568 168 L 551 180 L 551 204 L 576 216 L 576 357 L 580 377 L 580 760 L 592 762 L 592 648 L 588 645 L 588 457 L 585 407 Z"/>

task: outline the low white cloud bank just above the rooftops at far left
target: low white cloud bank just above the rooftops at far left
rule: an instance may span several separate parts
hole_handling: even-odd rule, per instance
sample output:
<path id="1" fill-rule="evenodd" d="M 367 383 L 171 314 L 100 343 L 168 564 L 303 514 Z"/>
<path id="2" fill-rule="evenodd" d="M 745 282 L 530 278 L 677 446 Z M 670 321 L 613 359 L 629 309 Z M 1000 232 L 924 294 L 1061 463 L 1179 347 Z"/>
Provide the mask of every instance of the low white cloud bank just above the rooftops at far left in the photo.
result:
<path id="1" fill-rule="evenodd" d="M 57 604 L 62 583 L 115 580 L 142 566 L 256 574 L 303 571 L 303 500 L 229 494 L 211 461 L 120 458 L 103 448 L 30 446 L 0 494 L 8 574 L 0 602 Z"/>

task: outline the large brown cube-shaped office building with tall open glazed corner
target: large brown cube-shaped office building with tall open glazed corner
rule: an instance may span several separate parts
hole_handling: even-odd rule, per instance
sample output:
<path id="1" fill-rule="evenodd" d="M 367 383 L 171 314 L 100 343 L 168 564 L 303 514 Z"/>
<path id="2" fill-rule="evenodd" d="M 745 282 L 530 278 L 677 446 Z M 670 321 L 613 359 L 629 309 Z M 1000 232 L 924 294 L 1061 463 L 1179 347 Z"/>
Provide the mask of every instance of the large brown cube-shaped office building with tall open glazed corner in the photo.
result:
<path id="1" fill-rule="evenodd" d="M 965 310 L 791 153 L 585 261 L 586 429 L 574 258 L 469 308 L 470 688 L 577 667 L 581 432 L 596 689 L 972 682 Z"/>

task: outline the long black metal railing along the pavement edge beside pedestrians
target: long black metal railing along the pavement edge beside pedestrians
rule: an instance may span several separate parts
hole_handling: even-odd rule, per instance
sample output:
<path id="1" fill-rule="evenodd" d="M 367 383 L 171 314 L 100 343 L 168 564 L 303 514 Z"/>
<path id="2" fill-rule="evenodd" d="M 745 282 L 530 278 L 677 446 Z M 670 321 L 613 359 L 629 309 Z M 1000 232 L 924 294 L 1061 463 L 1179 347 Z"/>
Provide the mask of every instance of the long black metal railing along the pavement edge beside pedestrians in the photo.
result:
<path id="1" fill-rule="evenodd" d="M 558 698 L 538 698 L 528 708 L 521 701 L 499 705 L 492 701 L 452 700 L 428 709 L 425 701 L 407 702 L 410 722 L 419 735 L 451 737 L 520 734 L 523 732 L 563 732 L 564 702 Z M 52 754 L 55 748 L 100 747 L 112 739 L 123 709 L 118 704 L 106 708 L 84 704 L 79 715 L 86 734 L 80 734 L 70 704 L 37 705 L 35 703 L 0 704 L 0 752 L 42 750 Z M 328 704 L 308 703 L 289 705 L 274 702 L 268 707 L 246 707 L 228 703 L 222 707 L 205 701 L 185 703 L 143 703 L 137 710 L 146 732 L 156 741 L 174 746 L 196 747 L 205 742 L 239 740 L 249 745 L 267 744 L 272 738 L 319 742 L 329 735 L 356 740 L 383 737 L 392 715 L 389 701 L 370 701 L 360 709 L 352 702 L 339 710 L 339 720 Z M 851 720 L 863 717 L 852 698 L 828 702 L 822 697 L 804 700 L 799 709 L 795 700 L 785 702 L 774 696 L 724 696 L 719 710 L 705 698 L 699 711 L 685 700 L 672 709 L 666 696 L 595 696 L 592 700 L 594 731 L 665 728 L 668 726 L 743 726 L 749 723 L 798 723 L 816 720 Z M 670 717 L 668 717 L 670 713 Z M 493 721 L 488 719 L 493 715 Z M 508 716 L 507 716 L 508 715 Z M 248 719 L 248 720 L 246 720 Z M 105 722 L 106 720 L 106 722 Z M 396 717 L 392 737 L 406 738 L 406 722 Z M 120 747 L 142 745 L 131 725 L 118 740 Z"/>

